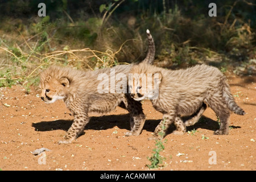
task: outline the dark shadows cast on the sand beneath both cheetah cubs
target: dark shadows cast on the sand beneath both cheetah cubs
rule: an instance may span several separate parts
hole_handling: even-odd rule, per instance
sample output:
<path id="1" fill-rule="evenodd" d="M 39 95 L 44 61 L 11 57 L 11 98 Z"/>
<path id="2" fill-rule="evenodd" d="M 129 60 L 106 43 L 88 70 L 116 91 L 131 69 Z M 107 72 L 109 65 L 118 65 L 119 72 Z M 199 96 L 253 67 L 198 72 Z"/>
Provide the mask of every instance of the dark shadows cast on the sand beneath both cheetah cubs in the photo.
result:
<path id="1" fill-rule="evenodd" d="M 113 127 L 118 127 L 119 129 L 130 130 L 130 115 L 120 114 L 120 115 L 104 115 L 101 117 L 91 117 L 88 125 L 85 126 L 86 130 L 107 130 Z M 185 121 L 187 118 L 183 118 Z M 143 130 L 154 132 L 156 126 L 160 123 L 161 119 L 147 119 Z M 71 127 L 73 120 L 58 119 L 55 121 L 42 121 L 38 123 L 32 123 L 32 127 L 35 131 L 51 131 L 51 130 L 64 130 L 68 131 Z M 230 126 L 233 129 L 241 128 L 240 126 Z M 204 115 L 199 119 L 199 122 L 195 123 L 193 126 L 187 126 L 187 131 L 193 129 L 207 129 L 216 131 L 220 128 L 217 121 L 207 118 Z M 167 131 L 167 135 L 171 134 L 175 130 L 175 126 L 172 124 Z"/>

